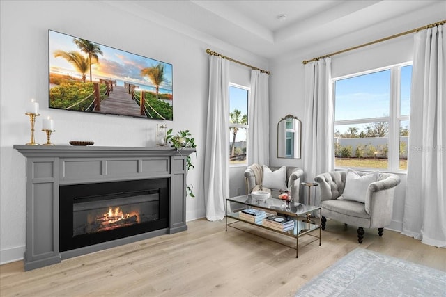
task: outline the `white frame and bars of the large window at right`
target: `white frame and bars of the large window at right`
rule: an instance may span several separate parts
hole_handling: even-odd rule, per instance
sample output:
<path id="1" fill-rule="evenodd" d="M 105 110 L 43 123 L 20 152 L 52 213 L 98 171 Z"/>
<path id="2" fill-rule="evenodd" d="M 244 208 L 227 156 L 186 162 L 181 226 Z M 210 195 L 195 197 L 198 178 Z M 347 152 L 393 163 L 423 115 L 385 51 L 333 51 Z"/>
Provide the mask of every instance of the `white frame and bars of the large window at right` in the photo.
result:
<path id="1" fill-rule="evenodd" d="M 388 147 L 389 151 L 387 154 L 387 168 L 368 168 L 368 167 L 351 167 L 357 170 L 373 171 L 373 170 L 384 170 L 386 172 L 397 172 L 397 173 L 407 173 L 407 169 L 399 168 L 399 129 L 400 123 L 402 121 L 409 122 L 409 137 L 410 137 L 410 114 L 401 115 L 401 68 L 413 65 L 413 61 L 408 61 L 405 63 L 398 63 L 386 67 L 380 67 L 373 70 L 367 70 L 363 72 L 356 72 L 354 74 L 348 74 L 341 77 L 332 78 L 332 97 L 333 97 L 333 127 L 337 125 L 360 125 L 368 124 L 371 122 L 389 122 L 388 130 Z M 371 74 L 374 72 L 380 72 L 383 70 L 390 70 L 390 102 L 389 102 L 389 116 L 383 116 L 378 118 L 360 118 L 356 120 L 335 120 L 336 115 L 336 81 L 341 79 L 349 79 L 352 77 L 359 77 L 364 74 Z M 410 95 L 412 97 L 412 95 Z M 334 136 L 334 131 L 333 131 Z M 345 170 L 346 166 L 336 166 L 335 169 Z"/>

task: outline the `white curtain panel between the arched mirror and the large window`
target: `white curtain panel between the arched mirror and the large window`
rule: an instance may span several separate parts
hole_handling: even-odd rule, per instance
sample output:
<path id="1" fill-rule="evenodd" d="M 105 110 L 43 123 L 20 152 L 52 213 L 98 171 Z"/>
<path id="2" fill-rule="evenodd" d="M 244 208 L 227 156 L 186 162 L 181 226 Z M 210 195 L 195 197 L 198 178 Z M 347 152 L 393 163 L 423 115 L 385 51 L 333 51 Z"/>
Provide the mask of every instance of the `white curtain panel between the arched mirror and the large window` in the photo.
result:
<path id="1" fill-rule="evenodd" d="M 305 65 L 305 120 L 302 165 L 305 181 L 334 170 L 334 122 L 331 82 L 331 59 Z M 316 189 L 317 191 L 317 189 Z M 303 193 L 307 195 L 307 193 Z M 320 204 L 316 195 L 315 204 Z"/>

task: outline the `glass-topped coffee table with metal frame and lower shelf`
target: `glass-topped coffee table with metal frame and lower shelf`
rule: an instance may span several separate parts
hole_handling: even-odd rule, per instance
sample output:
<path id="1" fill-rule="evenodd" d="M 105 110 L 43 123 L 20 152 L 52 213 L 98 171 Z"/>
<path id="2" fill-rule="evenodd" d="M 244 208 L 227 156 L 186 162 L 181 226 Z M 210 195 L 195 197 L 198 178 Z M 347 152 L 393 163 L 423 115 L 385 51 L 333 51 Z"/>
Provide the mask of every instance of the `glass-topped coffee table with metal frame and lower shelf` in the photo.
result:
<path id="1" fill-rule="evenodd" d="M 234 209 L 233 211 L 231 210 Z M 269 227 L 268 223 L 263 223 L 262 219 L 249 220 L 246 219 L 245 214 L 240 213 L 244 209 L 259 209 L 266 211 L 267 214 L 281 216 L 287 220 L 293 220 L 293 227 L 291 230 L 282 231 L 277 230 L 277 227 Z M 309 222 L 308 218 L 312 213 L 317 212 L 319 214 L 316 222 Z M 235 221 L 228 223 L 228 218 L 233 218 Z M 233 198 L 226 199 L 226 231 L 228 226 L 236 228 L 238 230 L 245 231 L 236 227 L 236 224 L 243 222 L 257 227 L 261 227 L 272 232 L 277 232 L 285 236 L 295 238 L 295 257 L 298 257 L 299 237 L 308 235 L 313 236 L 315 239 L 309 241 L 307 244 L 319 240 L 319 246 L 321 246 L 321 207 L 314 205 L 305 205 L 298 202 L 286 202 L 277 198 L 268 198 L 266 200 L 256 200 L 251 195 L 241 195 Z M 290 223 L 291 224 L 291 223 Z M 292 225 L 292 224 L 291 224 Z M 318 231 L 316 231 L 318 230 Z M 314 232 L 316 231 L 316 232 Z M 316 233 L 316 234 L 314 234 Z"/>

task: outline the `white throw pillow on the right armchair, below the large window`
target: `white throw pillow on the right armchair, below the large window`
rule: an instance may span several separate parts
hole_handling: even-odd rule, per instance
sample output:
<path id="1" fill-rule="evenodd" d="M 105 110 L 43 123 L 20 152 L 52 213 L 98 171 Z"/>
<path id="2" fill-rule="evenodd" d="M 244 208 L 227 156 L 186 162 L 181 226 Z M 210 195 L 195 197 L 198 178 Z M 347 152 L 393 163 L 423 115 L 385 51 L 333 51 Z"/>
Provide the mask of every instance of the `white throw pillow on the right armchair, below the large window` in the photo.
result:
<path id="1" fill-rule="evenodd" d="M 365 203 L 369 184 L 376 182 L 378 177 L 378 171 L 366 173 L 365 175 L 360 176 L 355 170 L 348 169 L 346 173 L 346 186 L 339 199 Z"/>

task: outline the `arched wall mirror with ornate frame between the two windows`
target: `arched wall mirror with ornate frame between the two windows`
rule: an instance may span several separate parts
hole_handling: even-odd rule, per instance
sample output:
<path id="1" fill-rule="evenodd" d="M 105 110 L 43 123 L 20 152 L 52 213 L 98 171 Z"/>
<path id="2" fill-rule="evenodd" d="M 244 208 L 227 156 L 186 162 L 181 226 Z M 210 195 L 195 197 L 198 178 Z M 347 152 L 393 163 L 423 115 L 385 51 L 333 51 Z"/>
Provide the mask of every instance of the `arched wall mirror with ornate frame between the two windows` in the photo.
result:
<path id="1" fill-rule="evenodd" d="M 286 115 L 277 124 L 277 158 L 300 159 L 300 120 Z"/>

